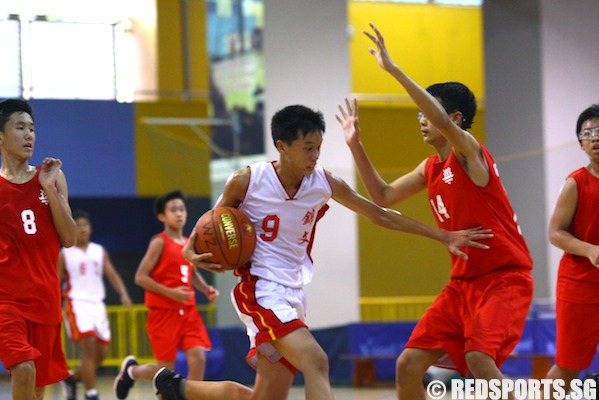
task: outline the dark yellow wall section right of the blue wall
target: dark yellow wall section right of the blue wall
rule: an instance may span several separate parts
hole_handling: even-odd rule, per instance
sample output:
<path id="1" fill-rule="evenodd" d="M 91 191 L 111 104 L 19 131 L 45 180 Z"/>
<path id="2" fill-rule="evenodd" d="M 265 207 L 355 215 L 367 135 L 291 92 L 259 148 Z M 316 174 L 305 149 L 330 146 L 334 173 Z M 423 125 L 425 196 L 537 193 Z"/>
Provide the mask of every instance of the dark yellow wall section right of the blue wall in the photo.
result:
<path id="1" fill-rule="evenodd" d="M 189 126 L 145 123 L 148 117 L 208 116 L 206 4 L 189 0 L 184 3 L 186 9 L 181 4 L 156 1 L 160 100 L 135 106 L 139 196 L 157 196 L 174 189 L 188 196 L 210 196 L 210 146 Z M 183 21 L 187 22 L 186 33 Z M 210 136 L 209 126 L 196 129 Z"/>

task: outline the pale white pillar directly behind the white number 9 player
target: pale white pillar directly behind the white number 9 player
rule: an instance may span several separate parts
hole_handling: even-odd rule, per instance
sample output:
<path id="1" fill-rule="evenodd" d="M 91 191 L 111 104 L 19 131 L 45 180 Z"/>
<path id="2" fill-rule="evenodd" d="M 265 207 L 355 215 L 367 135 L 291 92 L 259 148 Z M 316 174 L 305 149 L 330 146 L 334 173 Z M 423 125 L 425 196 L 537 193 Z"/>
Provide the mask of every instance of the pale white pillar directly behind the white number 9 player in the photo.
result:
<path id="1" fill-rule="evenodd" d="M 327 129 L 319 164 L 354 186 L 353 159 L 335 120 L 351 93 L 346 0 L 265 0 L 266 126 L 277 110 L 322 111 Z M 278 153 L 266 133 L 268 157 Z M 317 226 L 314 280 L 306 287 L 310 327 L 359 320 L 357 217 L 336 202 Z"/>

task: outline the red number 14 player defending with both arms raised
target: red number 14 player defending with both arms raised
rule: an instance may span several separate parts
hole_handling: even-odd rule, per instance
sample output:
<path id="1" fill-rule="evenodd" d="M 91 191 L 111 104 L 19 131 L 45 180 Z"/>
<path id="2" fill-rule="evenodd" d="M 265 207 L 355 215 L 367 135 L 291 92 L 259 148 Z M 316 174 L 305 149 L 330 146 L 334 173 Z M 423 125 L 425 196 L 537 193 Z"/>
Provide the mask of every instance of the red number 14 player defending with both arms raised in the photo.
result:
<path id="1" fill-rule="evenodd" d="M 447 230 L 482 225 L 493 231 L 489 249 L 464 249 L 452 255 L 451 279 L 420 319 L 397 360 L 396 384 L 402 399 L 424 400 L 422 377 L 431 365 L 468 371 L 478 379 L 502 378 L 500 367 L 524 329 L 532 301 L 532 259 L 520 233 L 495 161 L 466 131 L 476 112 L 470 90 L 455 82 L 421 88 L 391 59 L 381 33 L 364 32 L 376 49 L 370 53 L 420 108 L 424 142 L 437 154 L 387 184 L 360 141 L 357 102 L 346 100 L 337 120 L 344 129 L 370 197 L 381 206 L 396 204 L 422 190 L 438 226 Z"/>

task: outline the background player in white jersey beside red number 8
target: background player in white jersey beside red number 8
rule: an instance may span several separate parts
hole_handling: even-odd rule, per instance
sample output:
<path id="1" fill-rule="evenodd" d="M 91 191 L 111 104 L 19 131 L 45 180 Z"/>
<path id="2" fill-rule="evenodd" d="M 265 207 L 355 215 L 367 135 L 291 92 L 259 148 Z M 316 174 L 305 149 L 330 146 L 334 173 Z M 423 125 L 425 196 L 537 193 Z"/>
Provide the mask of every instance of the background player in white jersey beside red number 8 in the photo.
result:
<path id="1" fill-rule="evenodd" d="M 76 382 L 82 381 L 85 399 L 98 399 L 95 388 L 96 369 L 106 358 L 110 344 L 110 326 L 104 297 L 106 275 L 121 302 L 131 307 L 131 299 L 106 249 L 90 241 L 89 215 L 75 211 L 77 244 L 63 248 L 58 258 L 58 273 L 64 284 L 64 321 L 69 338 L 79 345 L 81 366 L 62 382 L 67 400 L 74 400 Z"/>

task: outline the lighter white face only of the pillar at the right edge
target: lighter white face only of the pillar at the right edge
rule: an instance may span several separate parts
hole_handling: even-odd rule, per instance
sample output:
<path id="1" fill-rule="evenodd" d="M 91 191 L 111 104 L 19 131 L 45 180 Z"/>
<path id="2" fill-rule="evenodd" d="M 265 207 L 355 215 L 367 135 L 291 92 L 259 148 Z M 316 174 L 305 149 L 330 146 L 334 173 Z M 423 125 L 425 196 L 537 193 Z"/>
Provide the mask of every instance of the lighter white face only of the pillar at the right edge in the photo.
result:
<path id="1" fill-rule="evenodd" d="M 576 140 L 576 120 L 599 102 L 599 2 L 542 1 L 541 49 L 546 226 L 566 176 L 588 164 Z M 593 28 L 591 28 L 593 27 Z M 549 245 L 551 296 L 562 251 Z"/>

